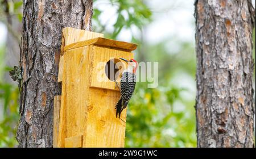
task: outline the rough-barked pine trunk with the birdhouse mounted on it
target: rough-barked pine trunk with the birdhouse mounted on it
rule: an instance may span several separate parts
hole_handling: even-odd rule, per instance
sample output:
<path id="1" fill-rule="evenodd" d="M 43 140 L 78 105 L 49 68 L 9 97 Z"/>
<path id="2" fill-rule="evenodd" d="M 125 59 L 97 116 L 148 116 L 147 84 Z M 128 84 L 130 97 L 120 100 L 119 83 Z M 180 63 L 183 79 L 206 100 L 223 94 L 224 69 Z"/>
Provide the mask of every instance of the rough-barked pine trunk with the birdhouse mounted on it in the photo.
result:
<path id="1" fill-rule="evenodd" d="M 52 147 L 53 97 L 61 93 L 57 83 L 61 30 L 91 30 L 92 0 L 23 1 L 23 89 L 19 147 Z"/>

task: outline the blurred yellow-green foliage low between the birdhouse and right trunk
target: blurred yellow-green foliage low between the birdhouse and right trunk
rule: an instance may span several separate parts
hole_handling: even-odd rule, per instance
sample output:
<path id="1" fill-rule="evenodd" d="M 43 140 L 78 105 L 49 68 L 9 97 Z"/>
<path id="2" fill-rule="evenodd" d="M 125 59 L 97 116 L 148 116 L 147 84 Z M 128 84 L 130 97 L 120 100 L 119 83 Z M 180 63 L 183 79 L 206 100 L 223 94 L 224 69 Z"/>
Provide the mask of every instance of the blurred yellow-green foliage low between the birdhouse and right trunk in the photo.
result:
<path id="1" fill-rule="evenodd" d="M 145 89 L 137 83 L 129 103 L 126 122 L 126 147 L 196 147 L 195 111 L 173 111 L 175 102 L 183 102 L 175 86 Z"/>

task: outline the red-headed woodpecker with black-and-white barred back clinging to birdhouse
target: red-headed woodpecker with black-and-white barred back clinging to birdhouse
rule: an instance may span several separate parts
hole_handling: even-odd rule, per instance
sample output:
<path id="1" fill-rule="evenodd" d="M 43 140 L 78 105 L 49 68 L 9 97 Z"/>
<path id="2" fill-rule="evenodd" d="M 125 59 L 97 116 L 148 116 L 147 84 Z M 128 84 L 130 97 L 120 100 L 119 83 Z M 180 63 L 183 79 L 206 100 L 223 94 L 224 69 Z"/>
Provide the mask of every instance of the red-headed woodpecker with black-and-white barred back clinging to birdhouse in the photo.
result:
<path id="1" fill-rule="evenodd" d="M 121 97 L 117 102 L 115 109 L 117 110 L 115 117 L 121 116 L 121 112 L 123 109 L 127 107 L 131 96 L 133 95 L 135 85 L 136 85 L 136 70 L 138 67 L 138 62 L 134 59 L 126 60 L 125 58 L 120 58 L 121 60 L 127 62 L 127 69 L 123 71 L 121 76 L 121 85 L 118 86 L 117 81 L 115 81 L 116 85 L 119 87 L 121 92 Z"/>

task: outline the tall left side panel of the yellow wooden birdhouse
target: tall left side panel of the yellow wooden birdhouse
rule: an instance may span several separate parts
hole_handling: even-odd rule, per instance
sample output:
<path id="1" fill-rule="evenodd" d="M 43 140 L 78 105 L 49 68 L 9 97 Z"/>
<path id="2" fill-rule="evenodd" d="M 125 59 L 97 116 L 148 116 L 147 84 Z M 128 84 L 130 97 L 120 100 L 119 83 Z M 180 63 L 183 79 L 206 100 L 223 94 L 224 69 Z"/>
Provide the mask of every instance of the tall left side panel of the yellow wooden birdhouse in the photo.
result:
<path id="1" fill-rule="evenodd" d="M 65 138 L 82 135 L 86 122 L 86 64 L 88 47 L 67 51 L 64 57 L 61 95 L 60 131 L 58 147 L 65 146 Z"/>

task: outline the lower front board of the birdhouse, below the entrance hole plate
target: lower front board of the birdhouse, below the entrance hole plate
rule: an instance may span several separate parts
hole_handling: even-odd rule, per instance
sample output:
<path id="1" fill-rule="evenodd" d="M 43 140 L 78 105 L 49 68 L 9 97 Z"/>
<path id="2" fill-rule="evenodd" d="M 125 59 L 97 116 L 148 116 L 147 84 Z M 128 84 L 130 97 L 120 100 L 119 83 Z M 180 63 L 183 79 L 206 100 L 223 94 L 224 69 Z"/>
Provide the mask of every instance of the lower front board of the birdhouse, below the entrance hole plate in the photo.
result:
<path id="1" fill-rule="evenodd" d="M 120 93 L 113 90 L 90 88 L 89 95 L 91 98 L 88 98 L 88 118 L 83 147 L 125 147 L 127 109 L 123 110 L 121 119 L 115 118 L 115 104 L 120 98 Z"/>

